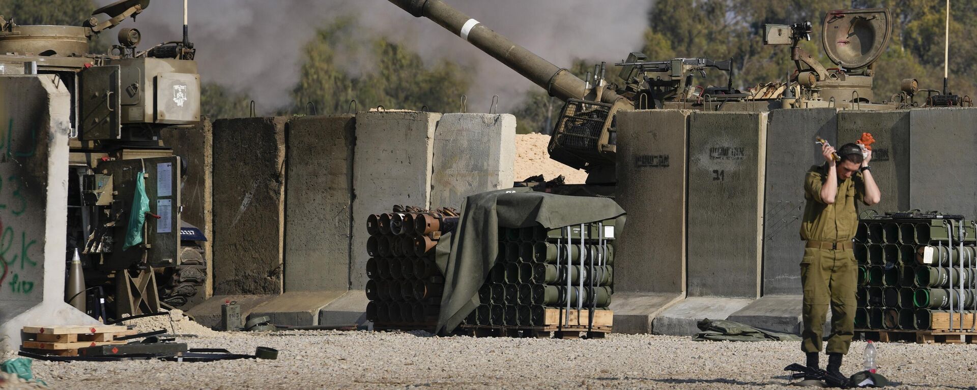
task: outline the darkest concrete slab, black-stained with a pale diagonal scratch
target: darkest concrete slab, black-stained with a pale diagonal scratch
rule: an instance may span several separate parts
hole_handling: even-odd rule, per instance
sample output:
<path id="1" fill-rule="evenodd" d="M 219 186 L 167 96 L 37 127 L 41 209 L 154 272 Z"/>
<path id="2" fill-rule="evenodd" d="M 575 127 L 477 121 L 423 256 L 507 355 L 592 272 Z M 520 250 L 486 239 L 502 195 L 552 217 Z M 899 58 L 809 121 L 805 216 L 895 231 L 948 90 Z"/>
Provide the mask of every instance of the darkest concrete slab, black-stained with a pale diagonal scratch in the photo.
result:
<path id="1" fill-rule="evenodd" d="M 288 118 L 214 122 L 214 293 L 281 293 Z"/>

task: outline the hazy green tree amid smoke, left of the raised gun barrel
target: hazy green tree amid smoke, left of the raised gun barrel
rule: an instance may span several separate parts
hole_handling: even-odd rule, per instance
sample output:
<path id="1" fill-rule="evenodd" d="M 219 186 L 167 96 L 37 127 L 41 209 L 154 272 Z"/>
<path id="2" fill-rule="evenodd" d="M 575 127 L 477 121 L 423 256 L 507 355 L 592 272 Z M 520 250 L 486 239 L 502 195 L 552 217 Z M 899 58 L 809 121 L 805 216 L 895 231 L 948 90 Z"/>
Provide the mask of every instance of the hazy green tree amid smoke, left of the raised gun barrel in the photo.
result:
<path id="1" fill-rule="evenodd" d="M 319 28 L 304 54 L 292 91 L 298 112 L 309 102 L 324 112 L 345 112 L 351 100 L 360 109 L 453 111 L 471 85 L 469 69 L 446 59 L 428 65 L 404 44 L 371 35 L 349 17 Z"/>

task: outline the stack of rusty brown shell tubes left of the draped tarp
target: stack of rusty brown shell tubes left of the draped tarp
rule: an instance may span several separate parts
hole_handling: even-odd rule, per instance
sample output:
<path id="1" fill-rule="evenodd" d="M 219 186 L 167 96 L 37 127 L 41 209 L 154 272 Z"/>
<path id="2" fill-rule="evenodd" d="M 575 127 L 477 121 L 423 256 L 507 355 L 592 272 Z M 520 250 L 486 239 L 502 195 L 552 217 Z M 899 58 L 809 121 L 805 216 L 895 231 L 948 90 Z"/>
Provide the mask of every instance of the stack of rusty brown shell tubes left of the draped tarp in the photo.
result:
<path id="1" fill-rule="evenodd" d="M 432 330 L 438 322 L 445 277 L 434 247 L 458 217 L 439 212 L 394 213 L 366 218 L 366 319 L 380 329 Z"/>

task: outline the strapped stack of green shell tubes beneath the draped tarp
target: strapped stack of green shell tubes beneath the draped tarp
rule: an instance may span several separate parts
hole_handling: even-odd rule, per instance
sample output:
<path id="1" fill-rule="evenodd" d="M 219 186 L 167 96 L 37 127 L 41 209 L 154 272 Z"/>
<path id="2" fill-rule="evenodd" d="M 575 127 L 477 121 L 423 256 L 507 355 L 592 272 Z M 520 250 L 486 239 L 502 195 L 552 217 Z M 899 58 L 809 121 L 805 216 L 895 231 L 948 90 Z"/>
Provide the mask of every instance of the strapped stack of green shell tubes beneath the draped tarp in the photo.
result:
<path id="1" fill-rule="evenodd" d="M 605 220 L 559 229 L 540 225 L 500 228 L 498 254 L 479 290 L 481 304 L 466 319 L 473 326 L 586 327 L 590 310 L 607 310 L 614 292 L 615 221 Z M 582 232 L 582 234 L 581 234 Z M 549 316 L 554 317 L 554 316 Z"/>

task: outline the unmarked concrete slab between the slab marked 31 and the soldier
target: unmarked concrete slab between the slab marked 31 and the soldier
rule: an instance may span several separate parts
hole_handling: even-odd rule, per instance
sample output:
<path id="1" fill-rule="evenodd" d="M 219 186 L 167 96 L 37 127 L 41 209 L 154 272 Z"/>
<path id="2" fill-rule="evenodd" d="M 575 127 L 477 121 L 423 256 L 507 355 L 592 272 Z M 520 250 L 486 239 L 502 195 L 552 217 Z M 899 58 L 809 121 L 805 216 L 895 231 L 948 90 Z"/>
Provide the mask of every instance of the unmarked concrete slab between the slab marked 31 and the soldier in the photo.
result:
<path id="1" fill-rule="evenodd" d="M 804 216 L 804 176 L 824 164 L 815 137 L 837 145 L 835 108 L 777 109 L 767 125 L 763 211 L 763 294 L 801 293 L 800 222 Z"/>

